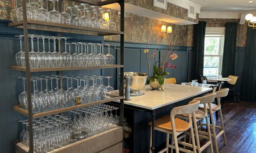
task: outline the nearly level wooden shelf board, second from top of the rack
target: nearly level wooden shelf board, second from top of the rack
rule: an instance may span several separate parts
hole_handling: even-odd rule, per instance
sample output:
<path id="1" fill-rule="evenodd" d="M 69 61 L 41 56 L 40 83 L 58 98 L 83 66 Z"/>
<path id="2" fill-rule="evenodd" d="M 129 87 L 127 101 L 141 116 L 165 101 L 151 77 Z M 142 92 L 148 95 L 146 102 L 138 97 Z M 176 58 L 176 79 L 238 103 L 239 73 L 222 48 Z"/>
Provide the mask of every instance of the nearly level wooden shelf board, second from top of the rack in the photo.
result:
<path id="1" fill-rule="evenodd" d="M 87 67 L 46 67 L 46 68 L 30 68 L 30 72 L 43 72 L 43 71 L 69 71 L 69 70 L 86 70 L 86 69 L 105 69 L 105 68 L 118 68 L 123 65 L 105 65 L 105 66 L 87 66 Z M 12 66 L 12 70 L 26 71 L 26 67 Z"/>

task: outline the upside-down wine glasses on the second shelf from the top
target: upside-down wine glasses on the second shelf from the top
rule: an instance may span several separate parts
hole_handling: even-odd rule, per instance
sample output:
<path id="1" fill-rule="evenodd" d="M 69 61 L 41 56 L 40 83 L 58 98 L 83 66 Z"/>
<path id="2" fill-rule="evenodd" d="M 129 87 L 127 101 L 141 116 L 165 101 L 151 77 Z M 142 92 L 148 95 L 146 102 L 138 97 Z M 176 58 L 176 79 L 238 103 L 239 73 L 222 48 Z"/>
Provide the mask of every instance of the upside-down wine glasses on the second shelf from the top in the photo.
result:
<path id="1" fill-rule="evenodd" d="M 22 49 L 22 38 L 24 35 L 17 35 L 20 38 L 20 51 L 16 53 L 15 59 L 18 66 L 25 66 L 25 52 Z M 102 43 L 67 43 L 69 37 L 57 37 L 46 35 L 28 35 L 31 38 L 31 51 L 29 52 L 30 67 L 84 67 L 102 66 L 114 64 L 114 56 L 110 54 L 110 44 Z M 37 39 L 37 51 L 34 50 L 34 38 Z M 43 50 L 40 51 L 39 40 L 43 41 Z M 45 39 L 48 39 L 48 51 L 45 50 Z M 53 39 L 53 51 L 50 49 Z M 61 46 L 61 40 L 65 40 L 65 47 Z M 58 45 L 56 44 L 56 40 Z M 69 51 L 67 50 L 69 45 Z M 71 54 L 71 45 L 75 46 L 75 52 Z M 103 47 L 108 47 L 108 54 L 104 54 Z M 58 51 L 57 51 L 58 48 Z M 61 51 L 65 48 L 65 51 Z M 99 48 L 99 53 L 97 51 Z M 64 50 L 64 49 L 62 49 Z M 90 50 L 90 53 L 89 53 Z M 98 53 L 98 54 L 97 54 Z"/>

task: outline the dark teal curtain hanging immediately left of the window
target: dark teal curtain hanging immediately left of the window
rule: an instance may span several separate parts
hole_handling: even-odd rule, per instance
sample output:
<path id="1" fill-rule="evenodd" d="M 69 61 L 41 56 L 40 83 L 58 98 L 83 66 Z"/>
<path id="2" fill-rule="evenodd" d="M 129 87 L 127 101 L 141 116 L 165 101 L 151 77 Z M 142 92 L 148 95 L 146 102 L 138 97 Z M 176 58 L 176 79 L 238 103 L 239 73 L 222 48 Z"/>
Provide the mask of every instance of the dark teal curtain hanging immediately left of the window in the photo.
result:
<path id="1" fill-rule="evenodd" d="M 204 21 L 199 21 L 198 24 L 195 24 L 192 79 L 199 79 L 200 75 L 203 75 L 205 28 L 206 22 Z"/>

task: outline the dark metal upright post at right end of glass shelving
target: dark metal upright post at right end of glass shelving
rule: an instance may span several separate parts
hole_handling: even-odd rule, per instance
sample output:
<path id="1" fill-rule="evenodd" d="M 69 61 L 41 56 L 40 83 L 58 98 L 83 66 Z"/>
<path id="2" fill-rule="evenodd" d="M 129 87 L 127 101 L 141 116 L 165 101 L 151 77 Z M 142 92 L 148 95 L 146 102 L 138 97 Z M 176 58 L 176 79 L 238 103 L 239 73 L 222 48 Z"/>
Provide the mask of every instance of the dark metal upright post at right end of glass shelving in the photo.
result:
<path id="1" fill-rule="evenodd" d="M 124 0 L 119 2 L 121 8 L 121 20 L 120 20 L 120 30 L 124 32 L 124 18 L 125 18 L 125 2 Z M 120 64 L 124 64 L 124 34 L 120 35 Z M 124 96 L 124 67 L 120 68 L 120 96 Z M 120 100 L 120 126 L 123 126 L 124 118 L 124 100 Z"/>

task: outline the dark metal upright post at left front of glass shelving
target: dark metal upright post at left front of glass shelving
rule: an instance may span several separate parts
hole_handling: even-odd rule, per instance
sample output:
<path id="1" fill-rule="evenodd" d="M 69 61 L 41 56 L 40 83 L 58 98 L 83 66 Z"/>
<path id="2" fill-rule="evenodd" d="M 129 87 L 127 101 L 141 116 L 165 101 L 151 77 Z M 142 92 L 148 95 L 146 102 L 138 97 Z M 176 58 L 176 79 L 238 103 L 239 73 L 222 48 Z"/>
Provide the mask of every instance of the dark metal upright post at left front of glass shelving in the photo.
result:
<path id="1" fill-rule="evenodd" d="M 26 64 L 26 78 L 27 78 L 27 93 L 28 93 L 28 135 L 29 135 L 29 153 L 33 153 L 33 127 L 32 127 L 32 104 L 31 104 L 31 90 L 30 90 L 30 65 L 28 53 L 28 21 L 26 0 L 22 0 L 22 15 L 23 15 L 23 32 L 24 32 L 24 50 L 25 50 L 25 64 Z"/>

